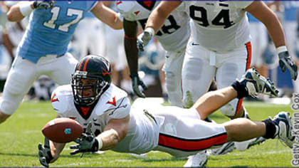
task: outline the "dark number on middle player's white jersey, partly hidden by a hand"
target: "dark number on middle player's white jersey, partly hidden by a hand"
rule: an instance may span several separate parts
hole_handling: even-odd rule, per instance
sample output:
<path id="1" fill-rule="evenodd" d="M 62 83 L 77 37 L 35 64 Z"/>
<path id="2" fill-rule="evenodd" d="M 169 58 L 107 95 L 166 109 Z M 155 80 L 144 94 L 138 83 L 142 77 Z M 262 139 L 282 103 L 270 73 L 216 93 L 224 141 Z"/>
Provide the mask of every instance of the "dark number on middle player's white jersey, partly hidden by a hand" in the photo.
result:
<path id="1" fill-rule="evenodd" d="M 177 21 L 174 20 L 174 16 L 170 15 L 167 20 L 169 21 L 170 24 L 167 26 L 164 24 L 162 28 L 157 32 L 157 36 L 162 36 L 165 33 L 171 34 L 174 33 L 177 29 L 179 29 L 181 26 L 177 25 Z M 147 19 L 142 19 L 139 20 L 141 26 L 143 29 L 145 29 L 145 24 L 147 23 Z M 167 23 L 165 21 L 165 23 Z"/>

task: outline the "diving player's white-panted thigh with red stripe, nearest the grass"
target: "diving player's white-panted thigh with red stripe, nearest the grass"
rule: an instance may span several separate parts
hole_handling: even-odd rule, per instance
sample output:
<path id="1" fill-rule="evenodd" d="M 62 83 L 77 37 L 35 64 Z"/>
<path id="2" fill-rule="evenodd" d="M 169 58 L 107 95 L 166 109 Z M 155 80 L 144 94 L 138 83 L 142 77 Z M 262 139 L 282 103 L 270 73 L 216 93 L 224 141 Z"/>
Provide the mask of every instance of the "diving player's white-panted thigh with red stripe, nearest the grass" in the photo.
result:
<path id="1" fill-rule="evenodd" d="M 160 114 L 165 118 L 159 133 L 160 150 L 184 157 L 226 142 L 223 125 L 201 120 L 195 109 L 177 109 Z"/>

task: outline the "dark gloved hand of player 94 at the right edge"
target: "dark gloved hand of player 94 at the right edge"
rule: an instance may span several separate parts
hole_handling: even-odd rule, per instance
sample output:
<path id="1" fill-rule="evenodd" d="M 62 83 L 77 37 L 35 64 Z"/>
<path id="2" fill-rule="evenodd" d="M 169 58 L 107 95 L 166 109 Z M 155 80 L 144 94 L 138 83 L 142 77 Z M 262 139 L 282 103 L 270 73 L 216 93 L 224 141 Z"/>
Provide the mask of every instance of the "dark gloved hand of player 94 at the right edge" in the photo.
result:
<path id="1" fill-rule="evenodd" d="M 288 68 L 290 70 L 290 76 L 293 80 L 296 80 L 298 75 L 297 65 L 294 63 L 292 58 L 290 58 L 288 51 L 283 51 L 278 53 L 279 57 L 279 66 L 280 69 L 285 72 L 285 68 Z"/>

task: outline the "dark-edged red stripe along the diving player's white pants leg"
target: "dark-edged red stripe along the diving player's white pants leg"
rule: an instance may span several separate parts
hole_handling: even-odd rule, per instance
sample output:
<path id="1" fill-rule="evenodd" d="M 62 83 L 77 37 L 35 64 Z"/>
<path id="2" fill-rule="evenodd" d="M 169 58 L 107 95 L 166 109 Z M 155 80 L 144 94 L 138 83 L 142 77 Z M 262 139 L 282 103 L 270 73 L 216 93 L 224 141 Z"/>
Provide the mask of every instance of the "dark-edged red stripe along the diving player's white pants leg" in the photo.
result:
<path id="1" fill-rule="evenodd" d="M 179 137 L 173 137 L 171 135 L 159 134 L 159 145 L 169 147 L 172 149 L 179 149 L 183 151 L 197 151 L 207 149 L 213 145 L 222 145 L 226 142 L 226 132 L 221 135 L 208 137 L 199 140 L 182 139 Z"/>

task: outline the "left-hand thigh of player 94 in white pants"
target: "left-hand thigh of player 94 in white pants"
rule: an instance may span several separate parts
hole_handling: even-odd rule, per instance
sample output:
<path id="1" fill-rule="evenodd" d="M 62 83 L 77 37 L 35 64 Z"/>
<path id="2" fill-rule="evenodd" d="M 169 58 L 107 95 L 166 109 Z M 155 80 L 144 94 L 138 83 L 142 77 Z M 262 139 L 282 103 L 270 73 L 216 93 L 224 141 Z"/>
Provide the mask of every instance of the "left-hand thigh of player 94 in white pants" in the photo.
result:
<path id="1" fill-rule="evenodd" d="M 182 67 L 182 91 L 183 102 L 186 103 L 189 98 L 197 100 L 204 95 L 211 85 L 216 67 L 210 65 L 209 53 L 199 49 L 196 52 L 187 52 L 184 56 Z"/>

